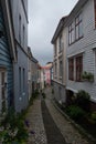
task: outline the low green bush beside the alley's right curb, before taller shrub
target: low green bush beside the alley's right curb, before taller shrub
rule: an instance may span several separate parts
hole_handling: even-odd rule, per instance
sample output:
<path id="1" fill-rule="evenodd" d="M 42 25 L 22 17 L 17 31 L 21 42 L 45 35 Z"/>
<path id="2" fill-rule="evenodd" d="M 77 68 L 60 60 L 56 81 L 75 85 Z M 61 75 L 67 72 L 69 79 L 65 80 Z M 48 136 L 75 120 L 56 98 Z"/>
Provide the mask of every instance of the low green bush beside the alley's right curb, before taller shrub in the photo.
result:
<path id="1" fill-rule="evenodd" d="M 81 117 L 84 116 L 85 112 L 76 106 L 76 105 L 71 105 L 66 109 L 66 113 L 72 117 L 73 120 L 79 120 Z"/>

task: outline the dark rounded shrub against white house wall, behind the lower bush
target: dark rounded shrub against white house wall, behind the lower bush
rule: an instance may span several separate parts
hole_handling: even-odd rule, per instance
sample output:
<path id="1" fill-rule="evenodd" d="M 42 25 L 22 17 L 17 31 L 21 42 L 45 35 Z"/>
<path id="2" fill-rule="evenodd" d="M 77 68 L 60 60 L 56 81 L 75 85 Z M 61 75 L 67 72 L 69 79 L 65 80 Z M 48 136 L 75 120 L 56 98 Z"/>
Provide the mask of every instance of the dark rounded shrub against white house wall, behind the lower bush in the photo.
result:
<path id="1" fill-rule="evenodd" d="M 77 106 L 82 107 L 85 111 L 90 109 L 90 95 L 84 90 L 78 91 L 76 94 L 75 103 Z"/>

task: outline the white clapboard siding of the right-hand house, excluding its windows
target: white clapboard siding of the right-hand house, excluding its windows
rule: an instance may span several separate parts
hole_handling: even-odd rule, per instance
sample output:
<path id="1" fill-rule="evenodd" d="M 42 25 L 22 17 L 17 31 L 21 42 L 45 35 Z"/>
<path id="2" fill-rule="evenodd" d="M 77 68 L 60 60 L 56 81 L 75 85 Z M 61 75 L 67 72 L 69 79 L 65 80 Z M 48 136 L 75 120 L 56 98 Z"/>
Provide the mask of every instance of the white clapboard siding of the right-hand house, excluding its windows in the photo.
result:
<path id="1" fill-rule="evenodd" d="M 83 39 L 68 45 L 67 33 L 67 58 L 83 52 L 83 71 L 92 72 L 96 75 L 95 51 L 93 50 L 93 47 L 96 44 L 94 1 L 88 0 L 81 11 L 83 14 Z M 73 18 L 72 21 L 75 18 Z M 87 91 L 92 95 L 92 100 L 96 102 L 96 80 L 93 83 L 75 82 L 70 81 L 67 75 L 67 88 L 74 91 L 83 89 Z"/>

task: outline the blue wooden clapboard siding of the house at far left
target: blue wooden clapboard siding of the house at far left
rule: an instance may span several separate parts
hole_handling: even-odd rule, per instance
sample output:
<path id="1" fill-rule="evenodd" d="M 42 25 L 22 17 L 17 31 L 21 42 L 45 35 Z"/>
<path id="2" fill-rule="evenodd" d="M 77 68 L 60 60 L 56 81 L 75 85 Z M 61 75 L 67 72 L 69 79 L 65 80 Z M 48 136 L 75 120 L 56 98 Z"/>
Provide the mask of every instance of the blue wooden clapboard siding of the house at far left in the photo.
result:
<path id="1" fill-rule="evenodd" d="M 7 23 L 4 23 L 2 9 L 0 7 L 0 29 L 4 32 L 4 35 L 0 39 L 0 68 L 6 68 L 7 70 L 7 96 L 10 101 L 10 99 L 12 99 L 11 96 L 13 96 L 13 65 L 4 24 Z"/>

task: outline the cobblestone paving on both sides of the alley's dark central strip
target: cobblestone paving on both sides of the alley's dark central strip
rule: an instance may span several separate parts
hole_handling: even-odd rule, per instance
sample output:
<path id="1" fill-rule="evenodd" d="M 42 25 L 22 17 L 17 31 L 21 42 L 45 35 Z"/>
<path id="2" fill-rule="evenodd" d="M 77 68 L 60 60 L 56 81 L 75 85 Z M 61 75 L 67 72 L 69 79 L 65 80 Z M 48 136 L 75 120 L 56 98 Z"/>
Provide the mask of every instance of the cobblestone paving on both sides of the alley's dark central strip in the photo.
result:
<path id="1" fill-rule="evenodd" d="M 90 144 L 87 142 L 87 140 L 82 136 L 78 131 L 68 122 L 52 104 L 51 99 L 52 99 L 52 93 L 51 89 L 45 90 L 46 93 L 46 107 L 55 122 L 57 128 L 64 136 L 64 140 L 66 141 L 67 144 Z M 43 117 L 42 117 L 42 110 L 41 110 L 41 99 L 35 100 L 34 104 L 30 107 L 29 113 L 26 115 L 26 119 L 30 122 L 29 126 L 29 142 L 28 144 L 53 144 L 53 143 L 47 143 L 49 141 L 46 140 L 46 126 L 44 128 L 43 124 Z M 43 115 L 44 116 L 44 115 Z M 45 121 L 45 120 L 44 120 Z M 49 133 L 50 134 L 50 133 Z M 55 135 L 56 137 L 56 135 Z M 54 143 L 55 144 L 55 143 Z M 62 144 L 62 143 L 58 143 Z M 65 144 L 65 142 L 64 142 Z"/>

